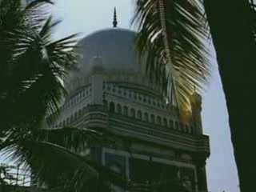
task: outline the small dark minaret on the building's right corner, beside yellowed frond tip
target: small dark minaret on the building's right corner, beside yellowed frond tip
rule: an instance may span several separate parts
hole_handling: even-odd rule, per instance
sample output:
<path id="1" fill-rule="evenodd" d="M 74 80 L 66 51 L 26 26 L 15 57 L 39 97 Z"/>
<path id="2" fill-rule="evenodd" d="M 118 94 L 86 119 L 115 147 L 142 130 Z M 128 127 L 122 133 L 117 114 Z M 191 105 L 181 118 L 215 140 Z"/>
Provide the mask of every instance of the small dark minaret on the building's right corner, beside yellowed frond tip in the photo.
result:
<path id="1" fill-rule="evenodd" d="M 195 133 L 203 134 L 202 133 L 202 118 L 201 118 L 202 96 L 200 94 L 198 94 L 195 89 L 194 89 L 194 94 L 192 94 L 190 97 L 190 103 L 191 103 L 192 118 L 193 118 Z"/>

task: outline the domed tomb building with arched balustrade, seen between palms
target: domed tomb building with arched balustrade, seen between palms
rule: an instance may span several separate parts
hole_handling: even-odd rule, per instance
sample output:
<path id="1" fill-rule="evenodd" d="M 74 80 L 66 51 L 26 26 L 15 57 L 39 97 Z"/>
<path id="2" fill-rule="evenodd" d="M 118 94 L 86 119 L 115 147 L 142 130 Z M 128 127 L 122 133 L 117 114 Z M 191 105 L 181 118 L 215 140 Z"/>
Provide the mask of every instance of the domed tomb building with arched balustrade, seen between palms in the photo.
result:
<path id="1" fill-rule="evenodd" d="M 194 94 L 192 123 L 178 121 L 159 86 L 143 73 L 132 30 L 98 30 L 83 38 L 79 70 L 65 79 L 68 97 L 53 126 L 96 127 L 118 137 L 118 147 L 89 155 L 134 182 L 179 175 L 190 191 L 207 191 L 209 138 L 202 133 L 201 99 Z"/>

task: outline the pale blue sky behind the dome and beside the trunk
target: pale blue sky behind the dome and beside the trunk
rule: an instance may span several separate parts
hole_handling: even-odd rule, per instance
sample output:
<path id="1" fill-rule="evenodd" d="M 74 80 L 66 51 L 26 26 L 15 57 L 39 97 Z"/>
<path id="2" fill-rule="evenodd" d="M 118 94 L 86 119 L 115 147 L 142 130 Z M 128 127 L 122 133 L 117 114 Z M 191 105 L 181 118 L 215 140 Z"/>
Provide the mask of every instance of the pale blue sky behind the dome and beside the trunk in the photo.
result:
<path id="1" fill-rule="evenodd" d="M 134 0 L 55 0 L 54 18 L 62 22 L 54 31 L 54 38 L 81 33 L 86 36 L 95 30 L 112 26 L 114 6 L 117 8 L 118 27 L 130 29 L 134 14 Z M 203 94 L 202 123 L 204 132 L 210 135 L 210 158 L 206 162 L 210 192 L 238 192 L 238 174 L 230 141 L 230 127 L 225 96 L 218 74 L 214 48 L 209 43 L 210 61 L 214 66 L 210 86 Z"/>

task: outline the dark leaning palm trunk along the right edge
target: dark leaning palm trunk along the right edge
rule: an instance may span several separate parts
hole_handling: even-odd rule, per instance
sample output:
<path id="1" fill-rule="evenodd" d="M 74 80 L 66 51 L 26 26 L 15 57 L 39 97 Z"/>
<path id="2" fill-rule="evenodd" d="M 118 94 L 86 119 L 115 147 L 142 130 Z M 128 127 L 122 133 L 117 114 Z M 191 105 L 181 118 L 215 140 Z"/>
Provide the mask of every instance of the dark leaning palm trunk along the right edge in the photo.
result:
<path id="1" fill-rule="evenodd" d="M 226 95 L 240 189 L 254 189 L 256 46 L 248 0 L 204 0 Z"/>

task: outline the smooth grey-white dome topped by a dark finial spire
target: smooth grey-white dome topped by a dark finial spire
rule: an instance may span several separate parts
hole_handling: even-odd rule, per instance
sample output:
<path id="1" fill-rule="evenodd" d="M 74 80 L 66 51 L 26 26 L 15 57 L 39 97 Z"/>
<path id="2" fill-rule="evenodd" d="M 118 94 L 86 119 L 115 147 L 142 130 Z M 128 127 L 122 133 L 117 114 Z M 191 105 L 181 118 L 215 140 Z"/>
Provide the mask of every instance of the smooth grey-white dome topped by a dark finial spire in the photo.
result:
<path id="1" fill-rule="evenodd" d="M 141 72 L 138 54 L 134 51 L 135 35 L 131 30 L 110 28 L 83 38 L 78 43 L 82 50 L 80 67 L 83 73 L 89 73 L 97 65 L 93 62 L 95 57 L 102 58 L 101 68 L 106 72 Z"/>

